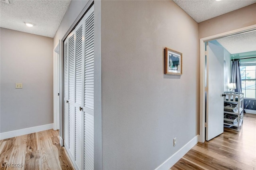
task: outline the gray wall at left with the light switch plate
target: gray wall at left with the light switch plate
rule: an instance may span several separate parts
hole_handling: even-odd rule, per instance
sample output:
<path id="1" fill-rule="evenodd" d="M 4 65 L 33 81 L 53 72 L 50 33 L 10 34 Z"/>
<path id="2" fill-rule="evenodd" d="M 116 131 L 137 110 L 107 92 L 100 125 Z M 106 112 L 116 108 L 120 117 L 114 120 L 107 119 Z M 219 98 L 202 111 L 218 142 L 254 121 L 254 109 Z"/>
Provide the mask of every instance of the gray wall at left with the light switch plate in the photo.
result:
<path id="1" fill-rule="evenodd" d="M 0 132 L 53 123 L 53 39 L 5 28 L 0 34 Z"/>

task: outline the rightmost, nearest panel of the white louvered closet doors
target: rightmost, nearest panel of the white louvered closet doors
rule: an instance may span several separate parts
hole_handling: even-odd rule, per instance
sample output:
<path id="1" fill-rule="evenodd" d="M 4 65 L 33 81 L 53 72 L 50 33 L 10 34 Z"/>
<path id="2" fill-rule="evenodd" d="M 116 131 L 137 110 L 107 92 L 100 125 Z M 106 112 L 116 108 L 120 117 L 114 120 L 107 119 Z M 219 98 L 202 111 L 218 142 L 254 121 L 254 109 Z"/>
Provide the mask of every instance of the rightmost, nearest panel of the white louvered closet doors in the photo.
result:
<path id="1" fill-rule="evenodd" d="M 94 9 L 85 20 L 84 50 L 84 169 L 94 169 Z"/>

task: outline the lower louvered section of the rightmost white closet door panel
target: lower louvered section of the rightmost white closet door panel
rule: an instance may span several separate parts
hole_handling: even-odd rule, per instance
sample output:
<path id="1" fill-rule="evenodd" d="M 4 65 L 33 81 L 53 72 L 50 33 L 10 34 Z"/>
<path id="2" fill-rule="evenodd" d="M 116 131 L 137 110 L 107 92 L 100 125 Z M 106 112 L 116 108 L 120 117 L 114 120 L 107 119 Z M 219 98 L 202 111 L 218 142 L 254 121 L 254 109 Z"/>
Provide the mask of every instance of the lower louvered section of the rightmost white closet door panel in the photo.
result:
<path id="1" fill-rule="evenodd" d="M 85 113 L 84 119 L 84 169 L 94 169 L 94 117 Z"/>

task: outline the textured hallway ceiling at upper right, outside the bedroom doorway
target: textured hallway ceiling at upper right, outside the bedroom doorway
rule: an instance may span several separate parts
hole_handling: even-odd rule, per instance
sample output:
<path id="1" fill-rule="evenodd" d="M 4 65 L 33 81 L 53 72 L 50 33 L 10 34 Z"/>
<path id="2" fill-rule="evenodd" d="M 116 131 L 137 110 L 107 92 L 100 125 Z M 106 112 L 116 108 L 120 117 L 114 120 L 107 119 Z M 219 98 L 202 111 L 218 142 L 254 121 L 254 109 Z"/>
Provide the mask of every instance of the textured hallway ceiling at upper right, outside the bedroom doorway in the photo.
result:
<path id="1" fill-rule="evenodd" d="M 202 22 L 239 8 L 256 3 L 256 0 L 173 0 L 196 22 Z"/>

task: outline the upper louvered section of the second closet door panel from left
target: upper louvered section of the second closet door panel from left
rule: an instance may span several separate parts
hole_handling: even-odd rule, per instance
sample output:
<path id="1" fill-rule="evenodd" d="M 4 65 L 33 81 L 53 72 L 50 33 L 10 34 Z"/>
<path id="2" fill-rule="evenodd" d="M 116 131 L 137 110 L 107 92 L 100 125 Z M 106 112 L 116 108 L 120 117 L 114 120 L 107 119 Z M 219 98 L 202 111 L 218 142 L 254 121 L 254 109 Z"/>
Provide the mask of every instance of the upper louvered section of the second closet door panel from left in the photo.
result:
<path id="1" fill-rule="evenodd" d="M 69 89 L 69 100 L 74 101 L 74 35 L 68 39 L 68 89 Z"/>

